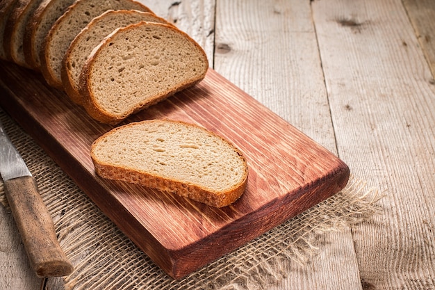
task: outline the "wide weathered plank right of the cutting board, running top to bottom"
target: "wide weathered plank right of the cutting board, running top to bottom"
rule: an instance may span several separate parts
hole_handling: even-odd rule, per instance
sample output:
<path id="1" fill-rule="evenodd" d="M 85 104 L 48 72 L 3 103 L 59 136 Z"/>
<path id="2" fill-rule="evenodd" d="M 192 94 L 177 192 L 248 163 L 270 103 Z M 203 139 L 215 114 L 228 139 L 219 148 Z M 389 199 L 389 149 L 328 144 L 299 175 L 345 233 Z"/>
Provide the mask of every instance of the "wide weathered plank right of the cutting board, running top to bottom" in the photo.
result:
<path id="1" fill-rule="evenodd" d="M 387 191 L 352 230 L 368 289 L 433 289 L 435 86 L 401 1 L 313 2 L 338 153 Z"/>

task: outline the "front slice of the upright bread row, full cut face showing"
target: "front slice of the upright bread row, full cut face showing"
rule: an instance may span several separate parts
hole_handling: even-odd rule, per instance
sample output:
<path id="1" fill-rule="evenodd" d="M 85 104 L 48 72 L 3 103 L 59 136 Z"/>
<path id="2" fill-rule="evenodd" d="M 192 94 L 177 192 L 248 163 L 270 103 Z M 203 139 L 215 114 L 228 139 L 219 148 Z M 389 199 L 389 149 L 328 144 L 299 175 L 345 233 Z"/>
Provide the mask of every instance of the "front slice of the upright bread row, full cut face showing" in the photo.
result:
<path id="1" fill-rule="evenodd" d="M 95 120 L 117 124 L 204 79 L 204 50 L 167 24 L 117 29 L 95 47 L 80 76 L 83 106 Z"/>

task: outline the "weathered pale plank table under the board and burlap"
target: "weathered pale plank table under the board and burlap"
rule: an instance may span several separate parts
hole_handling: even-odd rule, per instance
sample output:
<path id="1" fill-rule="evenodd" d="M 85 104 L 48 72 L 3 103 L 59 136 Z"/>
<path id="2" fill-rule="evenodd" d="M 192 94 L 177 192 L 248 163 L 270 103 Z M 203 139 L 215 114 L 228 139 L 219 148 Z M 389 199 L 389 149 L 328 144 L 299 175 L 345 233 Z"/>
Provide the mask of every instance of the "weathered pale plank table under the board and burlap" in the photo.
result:
<path id="1" fill-rule="evenodd" d="M 435 1 L 143 2 L 386 193 L 381 215 L 325 234 L 320 255 L 270 289 L 435 289 Z M 0 289 L 40 289 L 0 216 Z"/>

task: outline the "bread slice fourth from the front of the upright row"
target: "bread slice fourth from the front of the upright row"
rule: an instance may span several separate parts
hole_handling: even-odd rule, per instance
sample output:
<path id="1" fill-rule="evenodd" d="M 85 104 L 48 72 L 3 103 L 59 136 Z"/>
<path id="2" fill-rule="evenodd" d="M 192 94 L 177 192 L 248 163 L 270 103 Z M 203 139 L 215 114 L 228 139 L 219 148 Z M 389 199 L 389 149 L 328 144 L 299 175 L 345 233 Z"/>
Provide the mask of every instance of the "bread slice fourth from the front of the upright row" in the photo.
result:
<path id="1" fill-rule="evenodd" d="M 40 70 L 40 51 L 51 26 L 75 0 L 44 0 L 28 19 L 24 31 L 24 58 L 33 70 Z"/>

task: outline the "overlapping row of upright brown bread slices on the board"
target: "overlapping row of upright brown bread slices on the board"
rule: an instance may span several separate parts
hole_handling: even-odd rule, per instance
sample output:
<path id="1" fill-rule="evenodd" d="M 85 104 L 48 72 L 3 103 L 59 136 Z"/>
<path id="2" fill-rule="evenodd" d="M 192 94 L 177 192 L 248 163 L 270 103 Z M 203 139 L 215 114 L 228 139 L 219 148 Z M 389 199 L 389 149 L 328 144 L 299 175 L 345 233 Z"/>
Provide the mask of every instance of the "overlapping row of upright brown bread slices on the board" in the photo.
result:
<path id="1" fill-rule="evenodd" d="M 3 4 L 3 3 L 2 3 Z M 204 79 L 204 50 L 134 0 L 4 0 L 0 58 L 118 124 Z"/>

